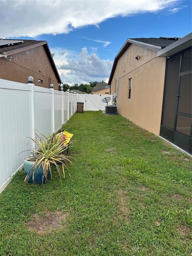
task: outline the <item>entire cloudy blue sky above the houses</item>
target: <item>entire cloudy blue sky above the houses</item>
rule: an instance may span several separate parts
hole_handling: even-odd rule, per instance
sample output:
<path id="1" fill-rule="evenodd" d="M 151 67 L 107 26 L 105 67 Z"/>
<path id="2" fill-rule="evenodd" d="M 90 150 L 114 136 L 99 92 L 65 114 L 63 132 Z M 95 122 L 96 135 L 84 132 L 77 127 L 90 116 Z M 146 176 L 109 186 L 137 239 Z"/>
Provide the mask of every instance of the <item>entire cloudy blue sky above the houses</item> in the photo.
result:
<path id="1" fill-rule="evenodd" d="M 0 31 L 5 27 L 5 38 L 47 40 L 63 82 L 70 84 L 107 82 L 127 38 L 182 37 L 192 31 L 190 0 L 32 2 L 14 1 L 5 15 L 7 6 L 1 1 Z M 31 10 L 30 15 L 25 16 L 25 10 Z M 17 18 L 8 25 L 9 14 Z"/>

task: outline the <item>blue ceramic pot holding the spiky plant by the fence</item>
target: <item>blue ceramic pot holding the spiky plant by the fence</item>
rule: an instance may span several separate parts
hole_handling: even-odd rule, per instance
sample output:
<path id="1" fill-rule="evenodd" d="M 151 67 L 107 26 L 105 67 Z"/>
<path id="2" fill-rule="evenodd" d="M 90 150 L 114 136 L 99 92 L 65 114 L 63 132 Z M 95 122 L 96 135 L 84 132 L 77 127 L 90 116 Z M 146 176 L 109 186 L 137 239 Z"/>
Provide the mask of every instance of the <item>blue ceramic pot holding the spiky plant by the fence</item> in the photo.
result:
<path id="1" fill-rule="evenodd" d="M 28 175 L 28 173 L 30 172 L 30 170 L 32 169 L 33 165 L 35 162 L 33 161 L 28 161 L 30 159 L 29 156 L 25 156 L 23 158 L 23 164 L 24 164 L 24 169 L 25 169 L 25 174 L 26 176 Z M 47 179 L 50 179 L 50 171 L 48 172 L 48 176 Z M 42 182 L 43 179 L 43 182 Z M 30 175 L 29 179 L 28 179 L 29 183 L 33 183 L 33 184 L 42 184 L 46 182 L 46 178 L 45 176 L 43 177 L 43 168 L 42 168 L 42 164 L 41 166 L 37 166 L 34 170 L 34 180 L 33 180 L 33 174 Z"/>

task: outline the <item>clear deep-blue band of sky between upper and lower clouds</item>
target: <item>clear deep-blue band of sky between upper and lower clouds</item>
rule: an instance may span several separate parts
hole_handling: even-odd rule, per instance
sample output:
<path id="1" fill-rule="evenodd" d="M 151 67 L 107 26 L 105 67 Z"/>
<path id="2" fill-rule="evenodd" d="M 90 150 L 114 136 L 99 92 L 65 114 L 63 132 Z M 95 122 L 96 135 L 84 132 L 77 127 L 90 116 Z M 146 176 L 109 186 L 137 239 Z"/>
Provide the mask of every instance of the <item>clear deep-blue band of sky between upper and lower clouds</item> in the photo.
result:
<path id="1" fill-rule="evenodd" d="M 92 48 L 98 48 L 100 58 L 114 60 L 114 57 L 127 38 L 138 37 L 183 37 L 192 31 L 191 26 L 191 1 L 181 1 L 181 9 L 172 13 L 160 11 L 158 13 L 143 13 L 128 17 L 109 18 L 96 26 L 85 26 L 60 35 L 42 35 L 37 39 L 48 41 L 50 47 L 63 47 L 79 52 L 86 46 L 88 52 L 95 52 Z M 84 38 L 111 42 L 107 47 L 102 47 L 100 42 L 94 42 Z"/>

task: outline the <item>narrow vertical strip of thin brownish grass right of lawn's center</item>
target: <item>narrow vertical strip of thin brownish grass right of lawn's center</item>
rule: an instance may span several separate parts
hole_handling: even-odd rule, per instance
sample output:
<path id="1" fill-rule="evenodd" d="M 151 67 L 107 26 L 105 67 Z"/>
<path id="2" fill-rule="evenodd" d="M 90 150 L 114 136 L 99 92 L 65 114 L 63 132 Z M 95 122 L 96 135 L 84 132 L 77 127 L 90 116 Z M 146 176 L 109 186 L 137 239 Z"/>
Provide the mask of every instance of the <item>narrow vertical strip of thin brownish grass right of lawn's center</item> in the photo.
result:
<path id="1" fill-rule="evenodd" d="M 129 222 L 130 210 L 126 205 L 126 202 L 127 202 L 126 192 L 124 190 L 118 190 L 117 194 L 118 194 L 118 199 L 120 203 L 119 215 L 122 216 L 126 222 Z"/>

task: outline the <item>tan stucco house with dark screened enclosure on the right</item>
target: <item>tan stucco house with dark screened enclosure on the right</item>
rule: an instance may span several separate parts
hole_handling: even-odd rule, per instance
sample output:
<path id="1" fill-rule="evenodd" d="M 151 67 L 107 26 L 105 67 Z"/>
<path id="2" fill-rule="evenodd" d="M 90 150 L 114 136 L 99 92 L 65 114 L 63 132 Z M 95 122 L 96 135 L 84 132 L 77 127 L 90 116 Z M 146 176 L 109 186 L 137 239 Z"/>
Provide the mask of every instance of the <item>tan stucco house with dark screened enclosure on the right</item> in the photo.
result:
<path id="1" fill-rule="evenodd" d="M 191 154 L 192 33 L 183 38 L 132 38 L 114 59 L 110 93 L 118 112 Z"/>

